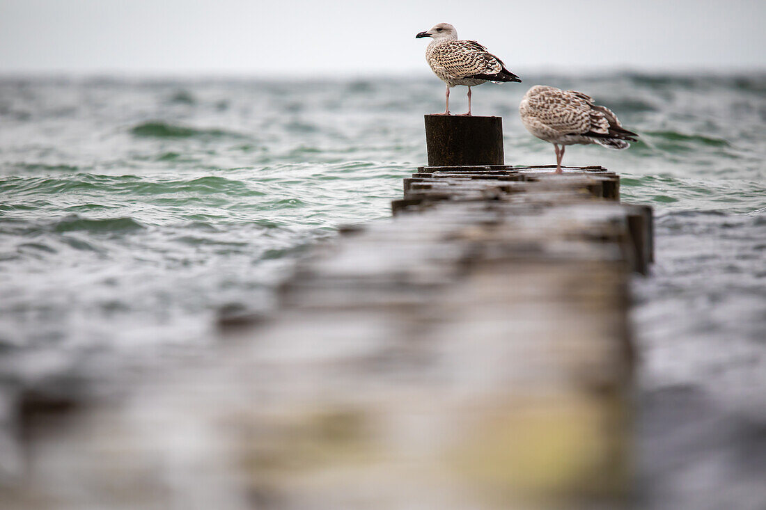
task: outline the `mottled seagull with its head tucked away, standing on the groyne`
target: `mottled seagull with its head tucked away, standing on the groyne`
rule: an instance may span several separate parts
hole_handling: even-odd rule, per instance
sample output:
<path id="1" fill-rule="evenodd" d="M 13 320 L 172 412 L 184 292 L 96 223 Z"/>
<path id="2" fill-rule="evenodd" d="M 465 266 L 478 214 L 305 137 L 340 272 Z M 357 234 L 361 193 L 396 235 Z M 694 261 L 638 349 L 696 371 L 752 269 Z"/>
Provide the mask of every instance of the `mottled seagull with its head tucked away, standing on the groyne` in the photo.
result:
<path id="1" fill-rule="evenodd" d="M 610 149 L 627 149 L 628 142 L 638 141 L 634 138 L 638 135 L 624 129 L 611 110 L 577 90 L 535 85 L 519 104 L 519 113 L 527 131 L 553 144 L 557 174 L 561 173 L 567 145 L 597 143 Z"/>

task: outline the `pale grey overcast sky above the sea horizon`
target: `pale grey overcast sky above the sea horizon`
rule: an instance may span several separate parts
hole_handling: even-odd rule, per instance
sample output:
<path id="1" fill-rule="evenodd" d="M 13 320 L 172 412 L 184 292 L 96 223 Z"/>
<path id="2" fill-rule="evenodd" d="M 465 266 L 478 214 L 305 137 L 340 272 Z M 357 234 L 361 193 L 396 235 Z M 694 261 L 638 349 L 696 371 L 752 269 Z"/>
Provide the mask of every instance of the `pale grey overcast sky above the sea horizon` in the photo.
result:
<path id="1" fill-rule="evenodd" d="M 430 73 L 455 25 L 530 70 L 766 69 L 766 0 L 0 0 L 0 73 Z"/>

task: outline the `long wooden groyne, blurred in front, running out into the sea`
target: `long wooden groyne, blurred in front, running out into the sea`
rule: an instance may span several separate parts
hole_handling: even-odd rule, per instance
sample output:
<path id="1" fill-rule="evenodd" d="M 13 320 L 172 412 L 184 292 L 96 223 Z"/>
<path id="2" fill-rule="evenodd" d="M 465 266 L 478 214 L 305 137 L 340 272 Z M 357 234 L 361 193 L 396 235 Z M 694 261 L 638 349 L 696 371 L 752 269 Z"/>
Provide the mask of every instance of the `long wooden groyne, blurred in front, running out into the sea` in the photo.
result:
<path id="1" fill-rule="evenodd" d="M 215 359 L 34 440 L 2 501 L 627 508 L 651 210 L 604 168 L 550 171 L 417 168 L 394 218 L 300 263 L 275 317 L 224 321 Z"/>

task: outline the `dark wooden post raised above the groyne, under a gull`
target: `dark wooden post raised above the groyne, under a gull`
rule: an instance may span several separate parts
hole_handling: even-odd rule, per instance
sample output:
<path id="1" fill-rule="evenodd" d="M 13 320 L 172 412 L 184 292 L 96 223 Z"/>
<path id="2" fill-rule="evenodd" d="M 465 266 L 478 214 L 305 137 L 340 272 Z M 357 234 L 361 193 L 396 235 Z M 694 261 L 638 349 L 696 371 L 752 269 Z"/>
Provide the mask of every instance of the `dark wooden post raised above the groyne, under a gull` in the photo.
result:
<path id="1" fill-rule="evenodd" d="M 429 166 L 504 165 L 502 117 L 427 115 Z"/>

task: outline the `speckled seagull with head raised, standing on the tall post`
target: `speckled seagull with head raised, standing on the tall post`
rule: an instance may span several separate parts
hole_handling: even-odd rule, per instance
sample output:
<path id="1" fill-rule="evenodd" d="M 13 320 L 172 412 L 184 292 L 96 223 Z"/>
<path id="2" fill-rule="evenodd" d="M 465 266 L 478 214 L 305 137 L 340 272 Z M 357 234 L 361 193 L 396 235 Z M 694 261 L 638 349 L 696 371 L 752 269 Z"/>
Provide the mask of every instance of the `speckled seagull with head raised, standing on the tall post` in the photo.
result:
<path id="1" fill-rule="evenodd" d="M 417 34 L 415 38 L 432 38 L 426 48 L 426 60 L 434 74 L 447 83 L 447 107 L 444 113 L 450 115 L 450 87 L 466 85 L 468 87 L 468 113 L 471 114 L 471 87 L 487 81 L 518 81 L 519 77 L 506 69 L 495 55 L 476 41 L 460 41 L 457 30 L 449 23 L 434 25 L 429 31 Z"/>

